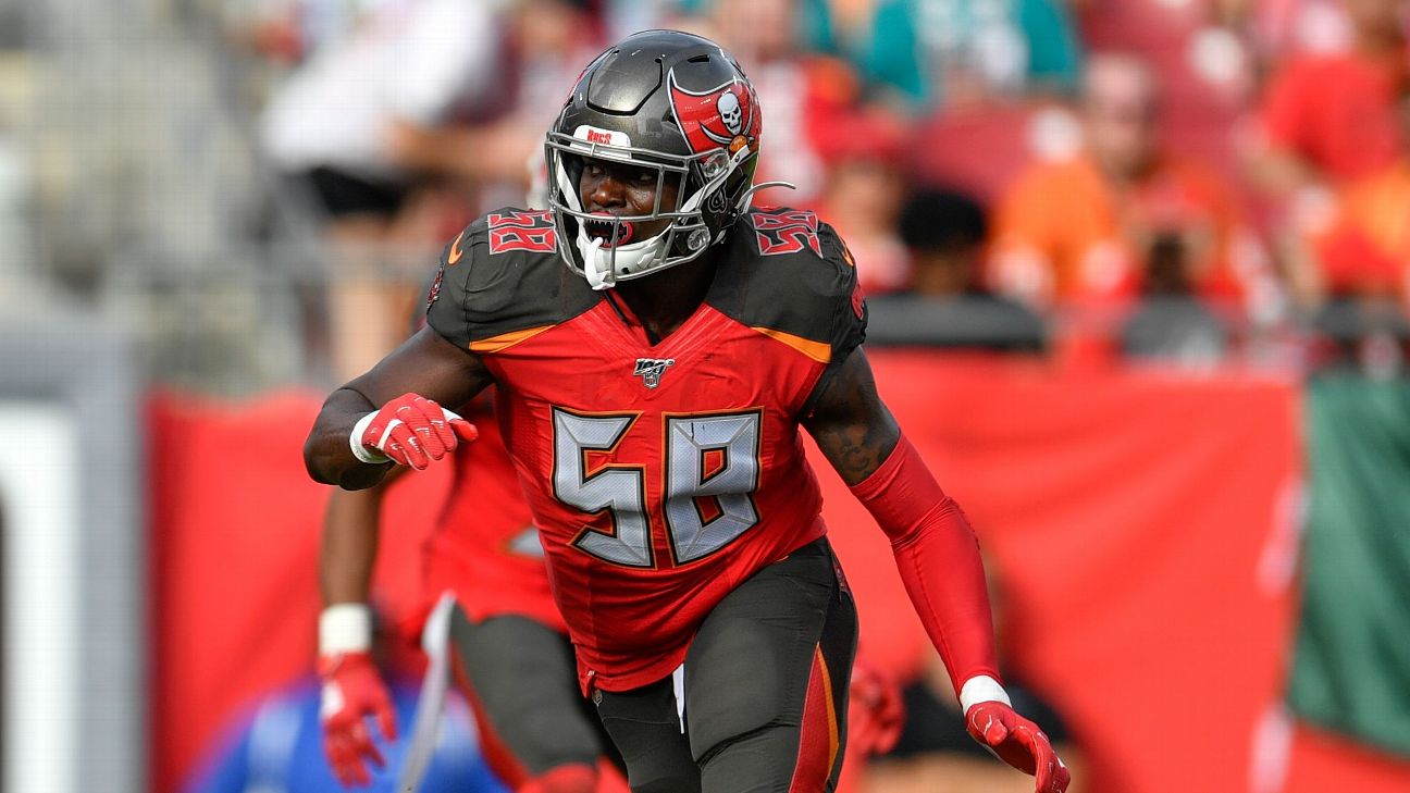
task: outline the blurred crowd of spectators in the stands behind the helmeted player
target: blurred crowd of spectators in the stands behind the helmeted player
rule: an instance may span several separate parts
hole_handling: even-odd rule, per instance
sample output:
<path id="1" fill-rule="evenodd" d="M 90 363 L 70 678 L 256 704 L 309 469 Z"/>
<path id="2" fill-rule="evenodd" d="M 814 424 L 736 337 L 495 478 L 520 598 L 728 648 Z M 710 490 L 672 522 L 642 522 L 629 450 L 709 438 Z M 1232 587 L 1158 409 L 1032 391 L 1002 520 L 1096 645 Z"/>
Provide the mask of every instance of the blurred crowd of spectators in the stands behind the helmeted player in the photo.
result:
<path id="1" fill-rule="evenodd" d="M 606 42 L 715 38 L 764 107 L 757 203 L 847 240 L 873 344 L 1400 371 L 1404 0 L 259 0 L 258 143 L 336 258 L 334 375 L 403 332 L 424 255 L 536 203 Z M 393 253 L 395 251 L 395 253 Z M 407 251 L 413 255 L 407 255 Z"/>

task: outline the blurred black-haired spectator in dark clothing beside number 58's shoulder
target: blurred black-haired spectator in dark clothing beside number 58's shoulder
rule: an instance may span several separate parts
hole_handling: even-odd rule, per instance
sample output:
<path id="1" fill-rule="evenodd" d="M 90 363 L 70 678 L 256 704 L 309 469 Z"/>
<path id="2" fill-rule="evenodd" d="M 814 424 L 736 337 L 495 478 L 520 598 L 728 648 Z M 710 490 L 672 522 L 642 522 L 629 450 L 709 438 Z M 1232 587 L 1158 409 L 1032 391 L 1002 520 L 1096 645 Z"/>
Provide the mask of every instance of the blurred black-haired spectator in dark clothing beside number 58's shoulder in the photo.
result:
<path id="1" fill-rule="evenodd" d="M 871 302 L 870 339 L 1000 351 L 1043 349 L 1042 319 L 983 285 L 988 217 L 979 202 L 962 192 L 922 190 L 901 209 L 900 234 L 911 253 L 911 288 Z"/>

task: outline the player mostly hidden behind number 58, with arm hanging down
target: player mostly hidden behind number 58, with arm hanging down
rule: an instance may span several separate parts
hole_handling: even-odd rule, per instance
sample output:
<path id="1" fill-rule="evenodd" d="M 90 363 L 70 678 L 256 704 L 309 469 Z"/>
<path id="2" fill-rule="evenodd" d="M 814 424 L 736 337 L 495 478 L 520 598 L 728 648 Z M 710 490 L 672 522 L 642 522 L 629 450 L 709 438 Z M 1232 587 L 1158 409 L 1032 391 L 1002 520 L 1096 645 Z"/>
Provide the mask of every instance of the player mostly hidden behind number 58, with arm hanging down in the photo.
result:
<path id="1" fill-rule="evenodd" d="M 495 423 L 481 422 L 479 439 L 454 456 L 447 502 L 423 547 L 423 591 L 427 598 L 455 593 L 454 676 L 474 706 L 486 762 L 516 793 L 625 790 L 613 772 L 599 782 L 599 761 L 615 751 L 575 684 L 572 646 L 548 594 L 537 531 Z M 324 514 L 324 751 L 344 785 L 367 785 L 368 763 L 382 765 L 367 717 L 385 738 L 396 737 L 391 697 L 369 653 L 367 605 L 391 478 L 364 491 L 336 491 Z"/>

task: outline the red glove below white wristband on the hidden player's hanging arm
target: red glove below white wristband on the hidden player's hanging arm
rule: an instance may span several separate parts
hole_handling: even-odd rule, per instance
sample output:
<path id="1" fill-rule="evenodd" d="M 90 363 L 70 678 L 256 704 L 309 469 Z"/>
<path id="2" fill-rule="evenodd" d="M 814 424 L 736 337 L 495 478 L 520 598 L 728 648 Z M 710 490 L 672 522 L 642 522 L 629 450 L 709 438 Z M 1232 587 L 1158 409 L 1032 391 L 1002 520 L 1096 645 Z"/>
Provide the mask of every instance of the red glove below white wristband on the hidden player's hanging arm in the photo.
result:
<path id="1" fill-rule="evenodd" d="M 382 676 L 371 655 L 348 652 L 321 656 L 319 677 L 323 679 L 323 752 L 329 766 L 344 787 L 371 785 L 364 759 L 376 768 L 385 768 L 386 761 L 372 742 L 364 717 L 375 715 L 382 735 L 396 739 L 396 715 Z"/>

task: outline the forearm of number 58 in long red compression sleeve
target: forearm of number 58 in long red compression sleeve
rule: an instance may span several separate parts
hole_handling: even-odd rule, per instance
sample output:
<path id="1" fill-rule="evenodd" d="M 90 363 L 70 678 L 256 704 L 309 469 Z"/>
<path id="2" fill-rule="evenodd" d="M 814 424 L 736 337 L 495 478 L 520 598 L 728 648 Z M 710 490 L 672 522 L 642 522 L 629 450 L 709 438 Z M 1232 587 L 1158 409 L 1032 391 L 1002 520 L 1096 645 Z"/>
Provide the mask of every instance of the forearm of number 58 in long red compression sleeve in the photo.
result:
<path id="1" fill-rule="evenodd" d="M 909 440 L 901 437 L 852 492 L 890 538 L 905 591 L 955 691 L 976 676 L 1000 680 L 979 542 Z"/>

